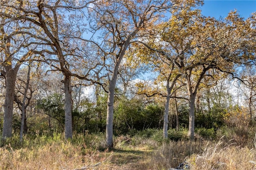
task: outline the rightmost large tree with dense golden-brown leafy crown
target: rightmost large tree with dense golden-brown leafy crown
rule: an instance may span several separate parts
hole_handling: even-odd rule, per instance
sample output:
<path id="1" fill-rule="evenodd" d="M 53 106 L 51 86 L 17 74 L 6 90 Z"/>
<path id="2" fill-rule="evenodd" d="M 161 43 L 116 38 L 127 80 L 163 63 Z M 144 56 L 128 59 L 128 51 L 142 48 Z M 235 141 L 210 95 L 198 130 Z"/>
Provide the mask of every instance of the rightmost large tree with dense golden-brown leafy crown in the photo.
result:
<path id="1" fill-rule="evenodd" d="M 197 10 L 183 10 L 180 14 L 178 17 L 182 19 L 172 16 L 161 38 L 176 54 L 174 63 L 182 73 L 182 82 L 186 83 L 188 98 L 176 98 L 189 103 L 188 135 L 194 140 L 195 100 L 200 83 L 205 76 L 212 76 L 207 73 L 213 69 L 235 76 L 235 63 L 248 59 L 241 45 L 246 41 L 240 30 L 245 23 L 236 12 L 231 12 L 226 20 L 206 18 Z"/>

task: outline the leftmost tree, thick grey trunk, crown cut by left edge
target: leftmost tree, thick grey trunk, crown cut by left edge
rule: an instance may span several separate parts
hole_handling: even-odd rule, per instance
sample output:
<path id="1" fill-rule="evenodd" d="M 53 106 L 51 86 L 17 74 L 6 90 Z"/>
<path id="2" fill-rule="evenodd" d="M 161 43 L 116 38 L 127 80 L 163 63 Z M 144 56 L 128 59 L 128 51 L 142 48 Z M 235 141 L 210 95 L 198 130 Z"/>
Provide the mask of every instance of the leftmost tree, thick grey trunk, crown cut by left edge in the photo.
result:
<path id="1" fill-rule="evenodd" d="M 14 103 L 14 88 L 18 70 L 23 61 L 32 55 L 30 35 L 23 32 L 33 27 L 28 27 L 21 21 L 13 20 L 7 16 L 17 15 L 16 11 L 4 8 L 7 2 L 0 2 L 0 66 L 1 76 L 5 79 L 4 124 L 2 138 L 12 136 L 12 116 Z"/>

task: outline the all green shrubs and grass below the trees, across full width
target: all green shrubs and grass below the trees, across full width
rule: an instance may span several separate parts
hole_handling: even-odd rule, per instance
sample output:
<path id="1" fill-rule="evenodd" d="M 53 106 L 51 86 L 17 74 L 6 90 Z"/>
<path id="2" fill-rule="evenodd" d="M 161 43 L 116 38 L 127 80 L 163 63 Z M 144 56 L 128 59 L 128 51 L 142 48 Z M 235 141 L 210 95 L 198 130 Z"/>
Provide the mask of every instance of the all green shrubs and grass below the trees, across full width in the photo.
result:
<path id="1" fill-rule="evenodd" d="M 164 139 L 161 104 L 119 97 L 114 106 L 114 148 L 108 150 L 106 108 L 100 107 L 105 100 L 102 96 L 98 106 L 84 100 L 86 109 L 73 111 L 75 131 L 69 140 L 64 139 L 61 96 L 38 100 L 37 114 L 27 113 L 23 141 L 18 116 L 13 137 L 1 141 L 0 169 L 165 170 L 185 161 L 192 170 L 256 167 L 255 121 L 244 107 L 196 111 L 193 142 L 188 137 L 186 105 L 178 107 L 178 129 L 176 115 L 169 115 L 168 139 Z"/>

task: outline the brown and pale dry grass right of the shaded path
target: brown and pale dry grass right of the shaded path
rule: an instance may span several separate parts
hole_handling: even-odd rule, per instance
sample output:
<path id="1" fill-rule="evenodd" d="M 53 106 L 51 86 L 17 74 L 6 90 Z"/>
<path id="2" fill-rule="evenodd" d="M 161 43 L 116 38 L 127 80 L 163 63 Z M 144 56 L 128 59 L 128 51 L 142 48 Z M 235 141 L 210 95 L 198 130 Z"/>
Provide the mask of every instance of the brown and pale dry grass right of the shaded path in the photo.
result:
<path id="1" fill-rule="evenodd" d="M 249 149 L 232 141 L 171 141 L 154 152 L 148 167 L 165 170 L 186 161 L 191 170 L 256 170 L 256 147 Z"/>

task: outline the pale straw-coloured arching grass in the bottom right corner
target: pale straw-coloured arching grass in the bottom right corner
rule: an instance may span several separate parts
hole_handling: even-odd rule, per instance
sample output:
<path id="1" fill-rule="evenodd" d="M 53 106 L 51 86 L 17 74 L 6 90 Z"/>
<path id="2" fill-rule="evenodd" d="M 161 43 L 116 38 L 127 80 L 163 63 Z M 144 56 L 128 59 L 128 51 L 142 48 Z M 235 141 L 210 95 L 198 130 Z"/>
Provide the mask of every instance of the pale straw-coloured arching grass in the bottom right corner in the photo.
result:
<path id="1" fill-rule="evenodd" d="M 201 155 L 193 155 L 188 159 L 193 170 L 253 170 L 256 168 L 256 150 L 240 147 L 236 143 L 218 141 L 215 145 L 207 145 Z"/>

